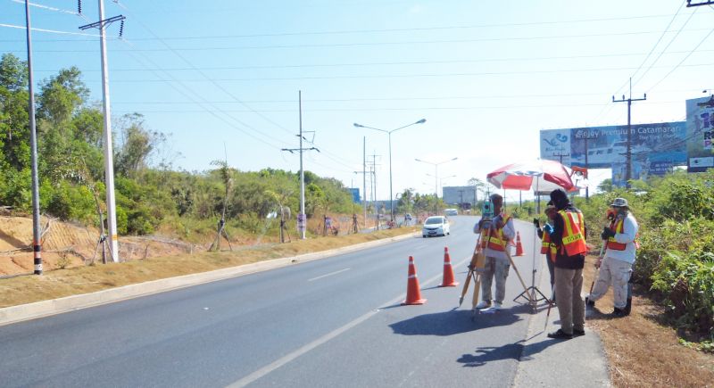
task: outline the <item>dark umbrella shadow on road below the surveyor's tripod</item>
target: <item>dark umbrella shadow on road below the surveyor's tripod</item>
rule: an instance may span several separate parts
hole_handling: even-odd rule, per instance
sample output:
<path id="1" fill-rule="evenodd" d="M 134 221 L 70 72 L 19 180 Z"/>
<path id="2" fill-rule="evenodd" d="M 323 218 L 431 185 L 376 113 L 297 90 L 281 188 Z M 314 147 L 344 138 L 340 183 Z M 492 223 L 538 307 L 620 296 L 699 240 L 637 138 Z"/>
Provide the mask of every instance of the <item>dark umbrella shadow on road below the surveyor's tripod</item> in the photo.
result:
<path id="1" fill-rule="evenodd" d="M 494 326 L 508 326 L 523 319 L 519 314 L 527 313 L 523 306 L 500 310 L 493 314 L 477 314 L 471 319 L 471 310 L 449 310 L 434 314 L 419 315 L 392 325 L 394 334 L 402 335 L 453 335 Z"/>

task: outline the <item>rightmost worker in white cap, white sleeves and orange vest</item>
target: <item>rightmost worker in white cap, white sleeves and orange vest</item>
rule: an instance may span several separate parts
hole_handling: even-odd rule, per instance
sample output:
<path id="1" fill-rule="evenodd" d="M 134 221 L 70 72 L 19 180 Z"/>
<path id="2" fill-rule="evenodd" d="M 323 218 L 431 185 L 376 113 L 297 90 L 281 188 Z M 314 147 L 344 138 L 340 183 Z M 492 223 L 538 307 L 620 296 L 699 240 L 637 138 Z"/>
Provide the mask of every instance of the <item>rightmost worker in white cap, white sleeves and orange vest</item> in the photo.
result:
<path id="1" fill-rule="evenodd" d="M 624 317 L 629 314 L 631 301 L 627 299 L 627 282 L 632 276 L 632 266 L 635 264 L 635 252 L 638 244 L 636 241 L 637 220 L 625 198 L 615 198 L 610 204 L 615 211 L 615 217 L 610 222 L 610 227 L 602 230 L 602 240 L 607 242 L 604 259 L 599 262 L 600 275 L 597 277 L 593 293 L 585 298 L 589 306 L 594 306 L 595 301 L 607 293 L 610 283 L 615 296 L 615 317 Z"/>

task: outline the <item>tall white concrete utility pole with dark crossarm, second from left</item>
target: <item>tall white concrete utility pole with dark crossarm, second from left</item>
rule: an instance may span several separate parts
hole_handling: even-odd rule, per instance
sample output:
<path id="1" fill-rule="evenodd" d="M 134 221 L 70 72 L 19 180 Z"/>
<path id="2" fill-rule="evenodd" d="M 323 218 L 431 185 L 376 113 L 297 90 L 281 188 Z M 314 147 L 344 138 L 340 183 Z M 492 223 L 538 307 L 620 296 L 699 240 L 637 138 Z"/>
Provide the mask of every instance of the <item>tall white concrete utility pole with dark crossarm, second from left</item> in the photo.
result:
<path id="1" fill-rule="evenodd" d="M 109 245 L 112 261 L 119 261 L 119 235 L 117 234 L 116 200 L 114 198 L 114 160 L 112 147 L 112 113 L 109 103 L 109 65 L 106 58 L 106 35 L 104 30 L 114 21 L 121 21 L 120 36 L 124 29 L 124 16 L 104 19 L 104 0 L 99 0 L 99 21 L 79 29 L 99 29 L 99 46 L 102 52 L 102 95 L 104 108 L 104 179 L 106 181 L 106 216 L 109 229 Z"/>

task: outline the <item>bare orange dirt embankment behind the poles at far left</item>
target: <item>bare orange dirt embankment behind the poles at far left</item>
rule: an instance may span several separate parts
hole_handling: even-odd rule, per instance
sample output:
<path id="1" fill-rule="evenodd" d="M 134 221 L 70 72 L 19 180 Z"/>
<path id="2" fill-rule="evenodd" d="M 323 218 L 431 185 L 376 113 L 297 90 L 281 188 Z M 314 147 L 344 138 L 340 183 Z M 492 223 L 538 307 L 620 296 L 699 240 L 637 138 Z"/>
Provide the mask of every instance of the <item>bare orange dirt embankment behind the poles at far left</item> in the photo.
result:
<path id="1" fill-rule="evenodd" d="M 41 219 L 41 225 L 43 269 L 78 267 L 93 260 L 101 262 L 102 244 L 95 227 L 79 227 L 46 218 Z M 189 253 L 196 249 L 191 244 L 161 237 L 120 237 L 119 244 L 122 260 Z M 32 219 L 0 217 L 0 276 L 27 274 L 33 270 Z"/>

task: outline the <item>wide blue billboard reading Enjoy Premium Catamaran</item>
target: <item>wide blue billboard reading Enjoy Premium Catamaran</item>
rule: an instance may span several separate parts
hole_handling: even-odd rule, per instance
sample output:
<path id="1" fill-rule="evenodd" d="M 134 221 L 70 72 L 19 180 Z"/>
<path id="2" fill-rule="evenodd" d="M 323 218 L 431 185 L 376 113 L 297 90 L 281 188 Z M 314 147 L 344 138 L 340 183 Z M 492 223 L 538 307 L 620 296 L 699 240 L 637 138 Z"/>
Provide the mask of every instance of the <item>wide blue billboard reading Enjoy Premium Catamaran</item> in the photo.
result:
<path id="1" fill-rule="evenodd" d="M 687 163 L 685 121 L 633 124 L 630 153 L 633 177 L 637 169 L 649 173 L 652 166 L 685 166 Z M 627 125 L 541 130 L 541 158 L 568 166 L 611 169 L 627 164 Z M 613 174 L 614 180 L 614 174 Z"/>

